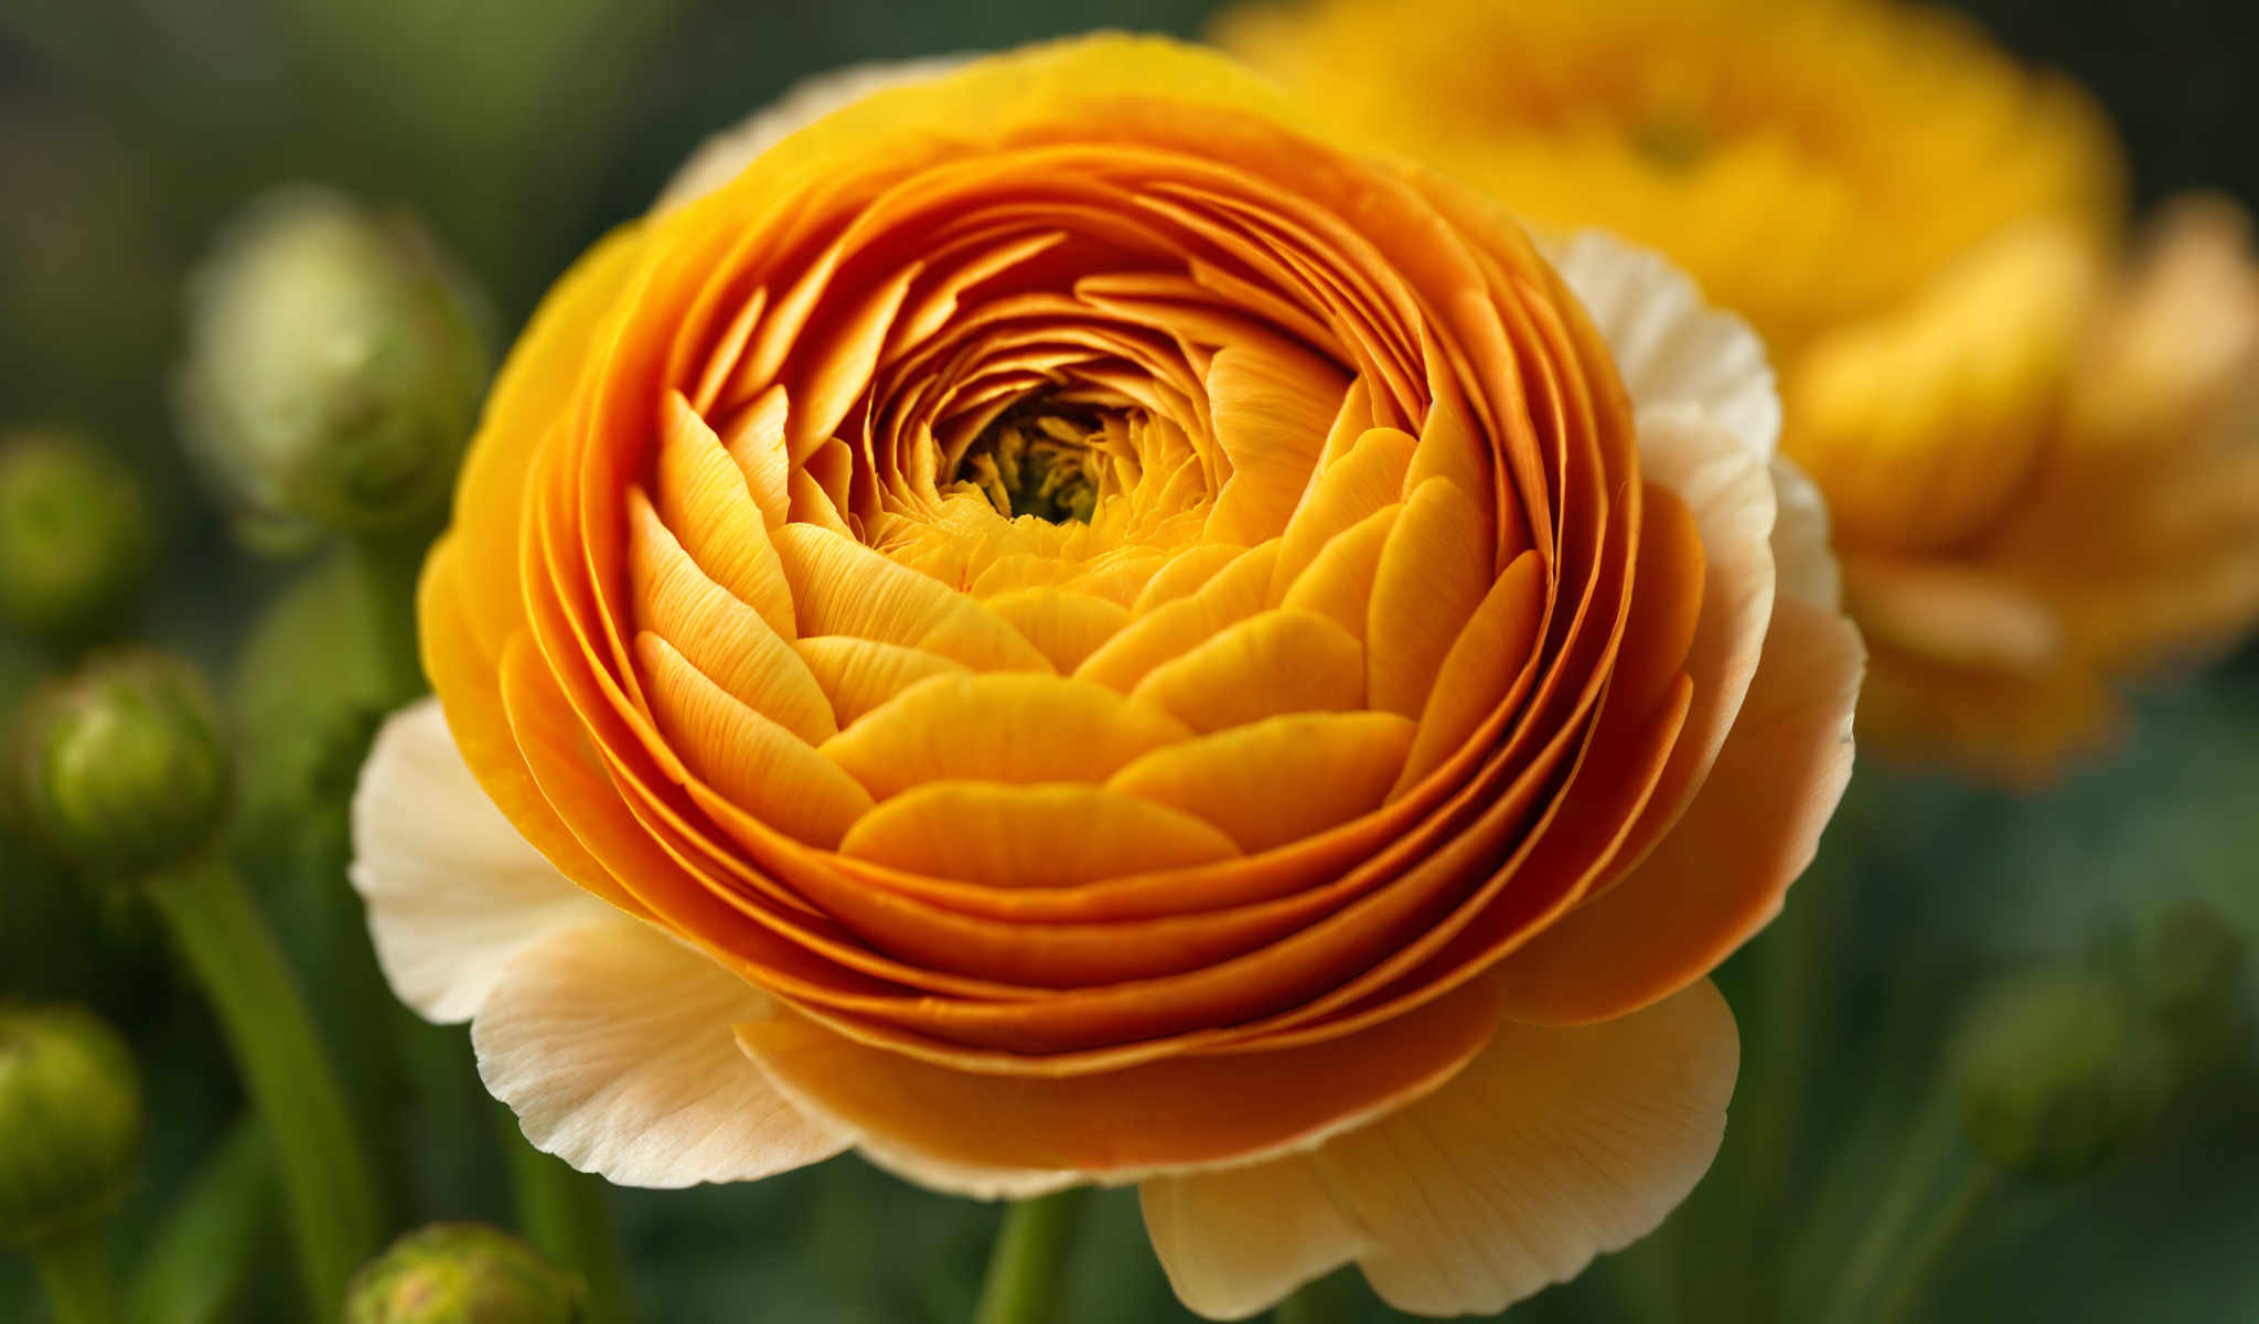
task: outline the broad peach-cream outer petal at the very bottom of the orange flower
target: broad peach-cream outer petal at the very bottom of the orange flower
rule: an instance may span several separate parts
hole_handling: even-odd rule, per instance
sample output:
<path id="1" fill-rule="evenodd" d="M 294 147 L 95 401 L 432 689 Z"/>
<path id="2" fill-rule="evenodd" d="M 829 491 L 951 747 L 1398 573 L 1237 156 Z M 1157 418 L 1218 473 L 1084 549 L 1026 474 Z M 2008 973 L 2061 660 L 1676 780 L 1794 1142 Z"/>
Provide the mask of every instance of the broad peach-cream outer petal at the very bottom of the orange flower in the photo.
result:
<path id="1" fill-rule="evenodd" d="M 1726 1134 L 1737 1069 L 1733 1012 L 1708 981 L 1597 1026 L 1509 1021 L 1450 1085 L 1383 1121 L 1148 1182 L 1145 1225 L 1177 1295 L 1211 1319 L 1349 1261 L 1398 1310 L 1502 1310 L 1685 1200 Z"/>

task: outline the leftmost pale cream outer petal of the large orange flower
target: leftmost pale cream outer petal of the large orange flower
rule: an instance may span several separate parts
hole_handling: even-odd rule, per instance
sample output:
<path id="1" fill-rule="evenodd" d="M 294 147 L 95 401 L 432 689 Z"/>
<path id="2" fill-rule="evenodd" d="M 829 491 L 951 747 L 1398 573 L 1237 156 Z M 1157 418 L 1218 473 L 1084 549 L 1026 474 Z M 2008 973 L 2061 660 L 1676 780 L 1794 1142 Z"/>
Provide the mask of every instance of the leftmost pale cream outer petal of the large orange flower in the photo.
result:
<path id="1" fill-rule="evenodd" d="M 350 877 L 384 978 L 441 1024 L 470 1019 L 533 942 L 610 913 L 495 809 L 436 698 L 395 712 L 361 764 Z"/>

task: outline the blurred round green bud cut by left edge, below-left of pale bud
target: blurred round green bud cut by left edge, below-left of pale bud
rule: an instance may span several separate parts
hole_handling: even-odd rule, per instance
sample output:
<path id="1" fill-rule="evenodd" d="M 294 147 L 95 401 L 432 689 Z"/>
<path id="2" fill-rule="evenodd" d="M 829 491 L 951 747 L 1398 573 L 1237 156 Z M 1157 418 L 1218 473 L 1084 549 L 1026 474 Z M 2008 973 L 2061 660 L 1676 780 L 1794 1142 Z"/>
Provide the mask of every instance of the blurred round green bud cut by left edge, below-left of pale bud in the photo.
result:
<path id="1" fill-rule="evenodd" d="M 99 633 L 140 590 L 156 520 L 124 465 L 79 436 L 0 441 L 0 619 L 41 639 Z"/>

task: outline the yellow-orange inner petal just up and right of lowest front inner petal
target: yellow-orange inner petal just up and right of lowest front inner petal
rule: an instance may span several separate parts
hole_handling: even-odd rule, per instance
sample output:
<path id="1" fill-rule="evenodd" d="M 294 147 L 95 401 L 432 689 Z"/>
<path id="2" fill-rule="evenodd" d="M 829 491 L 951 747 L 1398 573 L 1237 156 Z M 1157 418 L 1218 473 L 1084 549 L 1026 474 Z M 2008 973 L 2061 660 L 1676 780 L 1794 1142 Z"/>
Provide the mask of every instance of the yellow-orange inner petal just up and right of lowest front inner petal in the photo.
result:
<path id="1" fill-rule="evenodd" d="M 1254 854 L 1380 807 L 1412 723 L 1392 712 L 1292 712 L 1159 748 L 1107 779 L 1197 813 Z"/>

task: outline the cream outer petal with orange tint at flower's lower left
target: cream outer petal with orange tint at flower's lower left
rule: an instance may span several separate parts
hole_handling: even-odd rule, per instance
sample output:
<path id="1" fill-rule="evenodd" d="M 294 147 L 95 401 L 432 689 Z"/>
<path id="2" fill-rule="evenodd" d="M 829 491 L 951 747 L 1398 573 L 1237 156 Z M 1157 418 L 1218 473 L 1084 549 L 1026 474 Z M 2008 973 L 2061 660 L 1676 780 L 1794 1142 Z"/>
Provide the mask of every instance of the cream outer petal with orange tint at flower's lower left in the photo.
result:
<path id="1" fill-rule="evenodd" d="M 608 913 L 511 962 L 470 1042 L 533 1148 L 621 1186 L 750 1182 L 847 1148 L 736 1051 L 730 1026 L 766 1005 L 707 956 Z"/>

